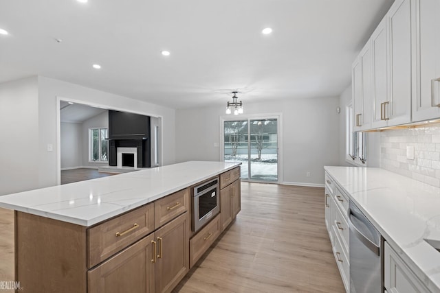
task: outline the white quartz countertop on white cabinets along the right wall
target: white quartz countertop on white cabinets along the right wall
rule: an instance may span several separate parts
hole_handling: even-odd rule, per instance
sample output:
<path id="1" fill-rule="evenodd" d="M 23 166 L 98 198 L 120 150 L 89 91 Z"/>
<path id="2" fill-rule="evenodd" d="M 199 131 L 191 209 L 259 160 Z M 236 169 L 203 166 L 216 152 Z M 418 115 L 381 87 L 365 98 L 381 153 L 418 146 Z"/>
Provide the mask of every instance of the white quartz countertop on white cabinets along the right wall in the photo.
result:
<path id="1" fill-rule="evenodd" d="M 397 254 L 440 292 L 440 189 L 379 168 L 325 167 Z"/>

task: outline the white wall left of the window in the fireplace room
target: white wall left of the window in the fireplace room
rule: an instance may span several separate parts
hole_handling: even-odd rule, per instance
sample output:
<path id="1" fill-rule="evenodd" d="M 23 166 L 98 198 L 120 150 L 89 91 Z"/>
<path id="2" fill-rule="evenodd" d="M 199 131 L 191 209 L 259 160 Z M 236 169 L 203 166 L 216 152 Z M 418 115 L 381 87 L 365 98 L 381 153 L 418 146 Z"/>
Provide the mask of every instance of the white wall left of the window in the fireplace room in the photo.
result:
<path id="1" fill-rule="evenodd" d="M 61 169 L 83 165 L 83 124 L 61 122 Z"/>

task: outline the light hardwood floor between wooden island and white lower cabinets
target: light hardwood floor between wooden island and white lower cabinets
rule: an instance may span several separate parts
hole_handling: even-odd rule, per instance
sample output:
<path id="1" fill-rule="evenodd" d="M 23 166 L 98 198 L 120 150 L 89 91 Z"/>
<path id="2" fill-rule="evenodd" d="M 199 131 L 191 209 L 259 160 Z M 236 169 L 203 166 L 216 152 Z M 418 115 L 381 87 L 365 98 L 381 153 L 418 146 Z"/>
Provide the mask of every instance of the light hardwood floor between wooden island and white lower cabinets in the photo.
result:
<path id="1" fill-rule="evenodd" d="M 345 292 L 324 189 L 241 183 L 241 212 L 174 292 Z"/>

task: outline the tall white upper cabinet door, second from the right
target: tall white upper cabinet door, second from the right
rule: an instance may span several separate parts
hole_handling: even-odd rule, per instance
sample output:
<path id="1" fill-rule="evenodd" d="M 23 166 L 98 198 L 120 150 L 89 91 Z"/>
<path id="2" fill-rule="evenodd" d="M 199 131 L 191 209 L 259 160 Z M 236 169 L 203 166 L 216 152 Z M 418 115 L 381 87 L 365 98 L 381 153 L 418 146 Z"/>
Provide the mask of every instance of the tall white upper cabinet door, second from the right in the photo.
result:
<path id="1" fill-rule="evenodd" d="M 395 0 L 387 14 L 389 26 L 390 100 L 388 126 L 411 121 L 411 0 Z"/>

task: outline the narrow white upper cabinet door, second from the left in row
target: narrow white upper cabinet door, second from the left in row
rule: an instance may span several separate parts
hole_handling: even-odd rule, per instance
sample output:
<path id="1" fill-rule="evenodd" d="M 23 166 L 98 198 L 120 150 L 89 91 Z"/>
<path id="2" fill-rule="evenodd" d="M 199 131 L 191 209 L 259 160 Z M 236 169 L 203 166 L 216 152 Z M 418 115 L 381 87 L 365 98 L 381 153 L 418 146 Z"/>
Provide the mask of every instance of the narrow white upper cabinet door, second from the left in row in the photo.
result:
<path id="1" fill-rule="evenodd" d="M 372 64 L 371 45 L 367 42 L 364 49 L 360 51 L 360 61 L 362 65 L 362 115 L 360 124 L 362 130 L 371 128 L 371 99 L 372 94 Z"/>

